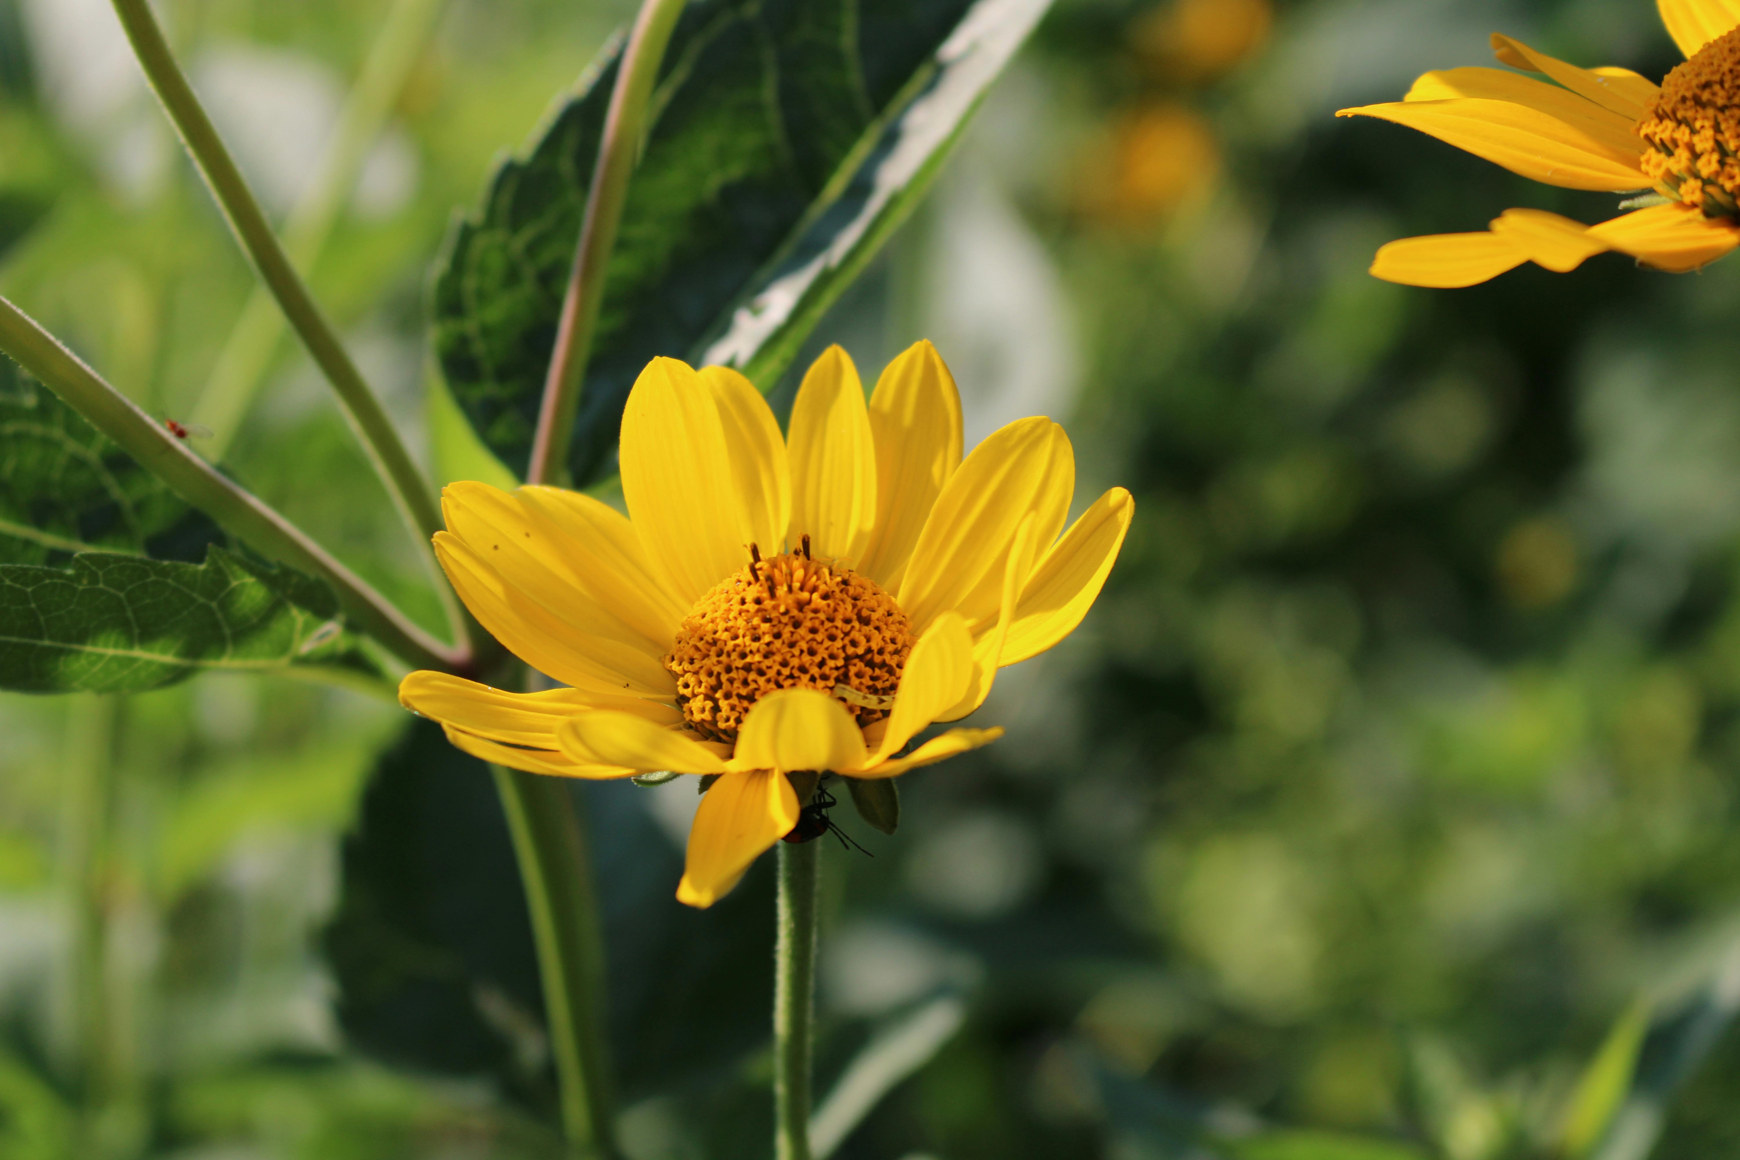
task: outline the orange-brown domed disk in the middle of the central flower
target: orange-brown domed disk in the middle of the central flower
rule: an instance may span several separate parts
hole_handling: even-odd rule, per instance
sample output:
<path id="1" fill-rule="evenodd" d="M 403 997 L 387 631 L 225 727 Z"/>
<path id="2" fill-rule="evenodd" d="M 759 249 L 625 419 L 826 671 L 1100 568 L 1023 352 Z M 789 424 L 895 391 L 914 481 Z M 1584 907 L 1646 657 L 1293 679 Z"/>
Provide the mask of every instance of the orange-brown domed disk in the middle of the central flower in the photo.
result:
<path id="1" fill-rule="evenodd" d="M 912 645 L 912 621 L 875 581 L 793 553 L 757 558 L 701 597 L 665 668 L 689 725 L 734 743 L 750 706 L 776 689 L 847 685 L 861 694 L 854 701 L 893 697 Z M 887 717 L 846 708 L 860 727 Z"/>

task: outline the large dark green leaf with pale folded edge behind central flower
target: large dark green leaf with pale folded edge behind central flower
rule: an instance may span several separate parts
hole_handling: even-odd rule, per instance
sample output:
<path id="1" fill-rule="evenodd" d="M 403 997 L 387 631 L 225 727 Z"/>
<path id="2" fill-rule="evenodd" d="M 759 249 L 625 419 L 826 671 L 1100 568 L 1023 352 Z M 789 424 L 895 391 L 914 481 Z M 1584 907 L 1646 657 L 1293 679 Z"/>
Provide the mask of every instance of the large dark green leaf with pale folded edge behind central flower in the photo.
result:
<path id="1" fill-rule="evenodd" d="M 767 390 L 936 176 L 1049 0 L 701 0 L 672 37 L 628 190 L 569 466 L 611 470 L 654 355 Z M 435 348 L 524 473 L 619 43 L 581 78 L 435 280 Z"/>

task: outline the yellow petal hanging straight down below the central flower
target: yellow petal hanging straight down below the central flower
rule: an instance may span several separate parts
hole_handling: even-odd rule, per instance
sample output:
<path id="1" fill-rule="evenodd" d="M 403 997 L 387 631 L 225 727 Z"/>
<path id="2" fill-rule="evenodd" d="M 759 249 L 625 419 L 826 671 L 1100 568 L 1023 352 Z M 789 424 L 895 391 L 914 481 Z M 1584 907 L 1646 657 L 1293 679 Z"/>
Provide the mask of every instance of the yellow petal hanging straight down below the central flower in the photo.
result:
<path id="1" fill-rule="evenodd" d="M 701 798 L 689 828 L 689 857 L 677 901 L 712 906 L 774 842 L 797 824 L 797 793 L 767 769 L 726 774 Z"/>

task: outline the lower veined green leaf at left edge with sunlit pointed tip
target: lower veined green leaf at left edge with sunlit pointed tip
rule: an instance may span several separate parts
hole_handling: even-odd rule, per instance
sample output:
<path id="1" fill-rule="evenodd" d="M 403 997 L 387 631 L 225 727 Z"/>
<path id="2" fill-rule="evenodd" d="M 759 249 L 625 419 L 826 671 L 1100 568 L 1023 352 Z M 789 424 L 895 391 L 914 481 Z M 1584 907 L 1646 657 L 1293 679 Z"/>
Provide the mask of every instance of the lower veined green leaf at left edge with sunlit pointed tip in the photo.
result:
<path id="1" fill-rule="evenodd" d="M 0 689 L 139 692 L 200 670 L 376 677 L 317 579 L 212 546 L 205 563 L 87 551 L 0 563 Z"/>

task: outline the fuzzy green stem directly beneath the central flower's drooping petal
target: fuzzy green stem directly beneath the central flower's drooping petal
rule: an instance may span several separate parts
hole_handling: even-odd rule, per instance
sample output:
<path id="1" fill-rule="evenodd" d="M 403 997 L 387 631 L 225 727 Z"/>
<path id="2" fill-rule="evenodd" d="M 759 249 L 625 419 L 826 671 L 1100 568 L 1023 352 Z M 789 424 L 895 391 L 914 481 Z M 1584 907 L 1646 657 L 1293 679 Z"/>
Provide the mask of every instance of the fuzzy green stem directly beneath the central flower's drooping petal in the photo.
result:
<path id="1" fill-rule="evenodd" d="M 776 1160 L 809 1160 L 809 1070 L 816 1014 L 816 885 L 820 842 L 780 843 L 773 981 L 773 1117 Z"/>

